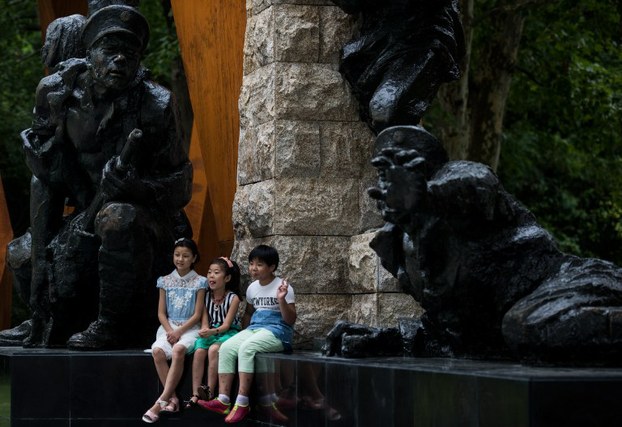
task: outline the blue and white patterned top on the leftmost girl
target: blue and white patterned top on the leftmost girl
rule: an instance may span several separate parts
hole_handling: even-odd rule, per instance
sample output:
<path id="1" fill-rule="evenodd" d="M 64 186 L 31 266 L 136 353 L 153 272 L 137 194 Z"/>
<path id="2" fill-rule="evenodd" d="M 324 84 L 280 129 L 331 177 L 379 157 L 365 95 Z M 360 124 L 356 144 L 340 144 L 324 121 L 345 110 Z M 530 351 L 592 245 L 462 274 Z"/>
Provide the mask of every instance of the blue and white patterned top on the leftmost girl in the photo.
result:
<path id="1" fill-rule="evenodd" d="M 207 278 L 191 270 L 181 277 L 177 270 L 158 278 L 158 288 L 166 291 L 166 313 L 169 320 L 183 323 L 194 314 L 197 293 L 207 289 Z"/>

